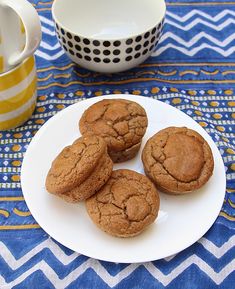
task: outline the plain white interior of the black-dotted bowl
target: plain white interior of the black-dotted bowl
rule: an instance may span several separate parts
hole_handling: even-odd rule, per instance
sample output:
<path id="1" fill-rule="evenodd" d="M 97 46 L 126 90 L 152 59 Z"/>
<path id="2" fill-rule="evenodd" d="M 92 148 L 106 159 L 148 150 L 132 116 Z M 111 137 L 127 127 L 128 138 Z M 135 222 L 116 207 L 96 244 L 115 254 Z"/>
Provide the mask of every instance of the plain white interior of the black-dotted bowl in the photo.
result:
<path id="1" fill-rule="evenodd" d="M 55 0 L 55 21 L 92 39 L 121 39 L 144 33 L 164 17 L 164 0 Z"/>

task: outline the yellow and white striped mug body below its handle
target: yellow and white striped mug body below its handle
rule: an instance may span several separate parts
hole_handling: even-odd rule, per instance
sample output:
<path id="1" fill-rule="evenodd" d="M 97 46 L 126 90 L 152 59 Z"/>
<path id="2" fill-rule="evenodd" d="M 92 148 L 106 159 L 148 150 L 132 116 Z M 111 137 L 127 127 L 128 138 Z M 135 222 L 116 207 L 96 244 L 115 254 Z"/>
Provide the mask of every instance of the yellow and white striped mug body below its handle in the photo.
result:
<path id="1" fill-rule="evenodd" d="M 0 74 L 0 130 L 28 120 L 36 106 L 37 73 L 34 56 Z"/>

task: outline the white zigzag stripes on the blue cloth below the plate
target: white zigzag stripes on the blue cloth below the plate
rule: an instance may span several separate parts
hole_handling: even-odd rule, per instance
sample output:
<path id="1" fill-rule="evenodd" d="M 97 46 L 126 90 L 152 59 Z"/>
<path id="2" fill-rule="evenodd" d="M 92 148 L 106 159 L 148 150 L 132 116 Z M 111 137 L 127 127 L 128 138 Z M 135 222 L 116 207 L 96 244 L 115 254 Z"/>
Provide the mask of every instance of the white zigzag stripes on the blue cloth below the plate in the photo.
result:
<path id="1" fill-rule="evenodd" d="M 199 240 L 206 251 L 212 254 L 215 258 L 220 259 L 230 250 L 235 247 L 235 236 L 230 237 L 230 239 L 225 242 L 222 246 L 216 246 L 213 242 L 206 239 L 205 237 Z M 27 263 L 33 256 L 43 251 L 43 249 L 49 249 L 53 254 L 54 258 L 60 261 L 63 266 L 69 265 L 76 258 L 79 258 L 80 254 L 72 253 L 67 255 L 51 238 L 47 238 L 42 241 L 36 247 L 31 249 L 25 255 L 16 259 L 12 252 L 7 248 L 7 246 L 0 242 L 0 256 L 8 264 L 11 270 L 16 271 L 20 269 L 25 263 Z M 175 256 L 166 258 L 165 261 L 171 262 Z M 40 260 L 29 270 L 24 271 L 19 277 L 7 283 L 3 276 L 0 276 L 0 288 L 12 288 L 20 284 L 28 276 L 41 270 L 43 274 L 50 280 L 50 282 L 56 286 L 58 289 L 66 288 L 74 280 L 79 278 L 88 268 L 92 268 L 94 272 L 102 278 L 102 280 L 111 288 L 120 283 L 123 279 L 130 276 L 139 266 L 144 266 L 145 269 L 164 286 L 168 286 L 175 278 L 177 278 L 182 272 L 192 265 L 196 265 L 199 270 L 208 275 L 208 277 L 213 280 L 217 285 L 221 284 L 226 277 L 228 277 L 231 272 L 233 272 L 235 267 L 235 259 L 228 262 L 219 272 L 216 272 L 214 268 L 208 265 L 201 257 L 196 254 L 192 254 L 185 258 L 180 265 L 176 265 L 170 273 L 164 274 L 153 262 L 143 263 L 143 264 L 130 264 L 127 265 L 123 270 L 121 270 L 115 276 L 111 275 L 105 267 L 98 261 L 91 258 L 85 260 L 80 266 L 76 267 L 71 271 L 65 278 L 61 279 L 60 276 L 50 267 L 47 260 Z"/>

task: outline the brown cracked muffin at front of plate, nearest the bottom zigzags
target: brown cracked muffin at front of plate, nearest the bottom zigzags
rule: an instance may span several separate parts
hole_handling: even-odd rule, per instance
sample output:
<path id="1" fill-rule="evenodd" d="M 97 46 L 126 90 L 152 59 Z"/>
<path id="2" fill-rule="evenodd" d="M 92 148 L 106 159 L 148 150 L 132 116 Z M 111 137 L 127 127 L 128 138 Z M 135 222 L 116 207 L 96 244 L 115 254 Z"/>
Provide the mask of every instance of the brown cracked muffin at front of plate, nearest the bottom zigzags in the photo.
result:
<path id="1" fill-rule="evenodd" d="M 154 222 L 160 199 L 154 184 L 144 175 L 121 169 L 86 200 L 93 222 L 116 237 L 132 237 Z"/>

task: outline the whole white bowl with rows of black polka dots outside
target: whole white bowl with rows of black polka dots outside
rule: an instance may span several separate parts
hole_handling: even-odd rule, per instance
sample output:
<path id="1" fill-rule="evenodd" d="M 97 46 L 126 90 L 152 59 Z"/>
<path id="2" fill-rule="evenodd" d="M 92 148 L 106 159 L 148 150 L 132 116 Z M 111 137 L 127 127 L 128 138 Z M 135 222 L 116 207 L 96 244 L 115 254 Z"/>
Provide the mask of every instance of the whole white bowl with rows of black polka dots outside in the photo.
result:
<path id="1" fill-rule="evenodd" d="M 80 66 L 115 73 L 144 62 L 161 37 L 164 0 L 55 0 L 60 44 Z"/>

